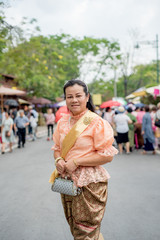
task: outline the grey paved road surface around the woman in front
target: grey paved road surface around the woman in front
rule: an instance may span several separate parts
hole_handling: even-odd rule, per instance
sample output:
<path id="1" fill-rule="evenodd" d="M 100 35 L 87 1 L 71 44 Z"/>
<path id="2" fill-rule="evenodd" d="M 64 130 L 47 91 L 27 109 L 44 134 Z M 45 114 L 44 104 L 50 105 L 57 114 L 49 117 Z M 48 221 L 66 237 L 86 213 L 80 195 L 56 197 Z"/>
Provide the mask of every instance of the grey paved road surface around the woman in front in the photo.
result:
<path id="1" fill-rule="evenodd" d="M 72 240 L 60 196 L 50 191 L 51 142 L 0 155 L 0 240 Z M 102 222 L 105 240 L 160 239 L 160 155 L 118 155 Z"/>

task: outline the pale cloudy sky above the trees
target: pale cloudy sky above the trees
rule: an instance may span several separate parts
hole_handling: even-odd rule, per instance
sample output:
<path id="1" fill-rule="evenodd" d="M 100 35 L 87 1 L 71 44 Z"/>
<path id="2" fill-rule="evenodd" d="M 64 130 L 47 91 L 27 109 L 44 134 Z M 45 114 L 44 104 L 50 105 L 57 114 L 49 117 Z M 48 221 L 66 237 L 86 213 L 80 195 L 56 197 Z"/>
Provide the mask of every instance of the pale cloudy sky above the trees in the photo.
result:
<path id="1" fill-rule="evenodd" d="M 130 51 L 138 41 L 135 64 L 156 59 L 159 0 L 8 1 L 11 7 L 5 12 L 10 23 L 17 24 L 24 16 L 36 18 L 43 35 L 64 32 L 73 37 L 103 37 L 118 41 L 123 51 Z M 146 41 L 149 42 L 145 44 Z"/>

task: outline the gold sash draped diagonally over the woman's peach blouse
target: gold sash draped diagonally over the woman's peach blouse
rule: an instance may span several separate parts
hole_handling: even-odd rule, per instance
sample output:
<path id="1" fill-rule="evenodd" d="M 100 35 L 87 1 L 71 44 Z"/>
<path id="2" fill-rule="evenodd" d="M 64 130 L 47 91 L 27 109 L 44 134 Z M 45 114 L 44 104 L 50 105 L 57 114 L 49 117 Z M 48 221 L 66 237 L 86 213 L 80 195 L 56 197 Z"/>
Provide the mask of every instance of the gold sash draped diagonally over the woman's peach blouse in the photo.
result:
<path id="1" fill-rule="evenodd" d="M 69 133 L 65 136 L 63 143 L 62 143 L 62 151 L 61 151 L 61 157 L 65 159 L 67 153 L 69 150 L 73 147 L 75 144 L 77 138 L 80 136 L 80 134 L 88 127 L 88 125 L 92 122 L 94 118 L 96 118 L 98 115 L 94 112 L 87 111 L 78 121 L 72 129 L 69 131 Z M 53 171 L 51 174 L 50 183 L 54 183 L 54 180 L 58 177 L 57 169 Z"/>

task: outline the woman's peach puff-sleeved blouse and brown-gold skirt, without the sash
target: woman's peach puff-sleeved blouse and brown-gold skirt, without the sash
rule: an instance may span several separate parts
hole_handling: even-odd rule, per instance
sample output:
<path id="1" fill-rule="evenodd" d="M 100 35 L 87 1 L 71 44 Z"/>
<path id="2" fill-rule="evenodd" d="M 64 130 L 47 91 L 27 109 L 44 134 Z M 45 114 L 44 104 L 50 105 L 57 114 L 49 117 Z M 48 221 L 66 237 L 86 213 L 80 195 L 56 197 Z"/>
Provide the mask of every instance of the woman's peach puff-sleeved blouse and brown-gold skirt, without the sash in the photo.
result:
<path id="1" fill-rule="evenodd" d="M 88 110 L 87 110 L 88 111 Z M 65 136 L 86 112 L 73 116 L 63 115 L 53 135 L 53 150 L 62 152 Z M 78 126 L 76 131 L 78 131 Z M 74 137 L 74 136 L 73 136 Z M 110 124 L 96 115 L 85 130 L 78 136 L 65 156 L 65 161 L 93 156 L 114 156 L 117 150 L 112 146 L 113 130 Z M 68 143 L 69 144 L 69 143 Z M 109 173 L 102 166 L 79 166 L 71 175 L 74 184 L 82 188 L 78 196 L 61 194 L 66 219 L 75 240 L 98 240 L 100 224 L 107 201 Z"/>

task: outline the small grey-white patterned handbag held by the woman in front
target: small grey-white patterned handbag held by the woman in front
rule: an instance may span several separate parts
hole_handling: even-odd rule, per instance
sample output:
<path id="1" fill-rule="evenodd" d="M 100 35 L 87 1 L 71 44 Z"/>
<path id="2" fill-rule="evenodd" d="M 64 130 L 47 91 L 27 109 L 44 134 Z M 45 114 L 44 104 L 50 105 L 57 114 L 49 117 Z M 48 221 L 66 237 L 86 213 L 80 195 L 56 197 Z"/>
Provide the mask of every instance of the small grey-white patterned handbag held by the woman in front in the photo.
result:
<path id="1" fill-rule="evenodd" d="M 66 195 L 77 196 L 82 192 L 82 188 L 76 187 L 72 180 L 58 177 L 51 186 L 53 192 L 59 192 Z"/>

